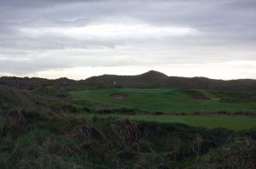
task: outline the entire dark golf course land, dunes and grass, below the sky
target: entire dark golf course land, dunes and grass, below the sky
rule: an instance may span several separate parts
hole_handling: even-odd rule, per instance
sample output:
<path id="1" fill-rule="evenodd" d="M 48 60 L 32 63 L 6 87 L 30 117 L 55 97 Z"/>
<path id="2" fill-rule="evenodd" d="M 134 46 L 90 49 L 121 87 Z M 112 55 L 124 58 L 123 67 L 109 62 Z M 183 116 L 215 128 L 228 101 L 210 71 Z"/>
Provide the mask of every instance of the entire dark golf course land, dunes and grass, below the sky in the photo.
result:
<path id="1" fill-rule="evenodd" d="M 155 71 L 1 77 L 0 168 L 255 168 L 255 91 Z"/>

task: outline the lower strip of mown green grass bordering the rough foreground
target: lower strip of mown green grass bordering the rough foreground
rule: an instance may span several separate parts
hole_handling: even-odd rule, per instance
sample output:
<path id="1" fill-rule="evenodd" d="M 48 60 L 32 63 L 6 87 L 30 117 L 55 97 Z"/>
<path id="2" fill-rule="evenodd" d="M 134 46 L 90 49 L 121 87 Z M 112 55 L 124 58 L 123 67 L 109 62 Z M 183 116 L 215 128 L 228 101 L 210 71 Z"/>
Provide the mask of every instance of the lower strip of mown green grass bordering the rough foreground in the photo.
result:
<path id="1" fill-rule="evenodd" d="M 94 115 L 76 115 L 75 118 L 92 118 Z M 248 130 L 256 127 L 256 117 L 227 115 L 97 115 L 110 116 L 134 121 L 153 121 L 159 123 L 183 123 L 192 127 L 227 128 L 234 131 Z"/>

